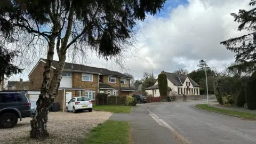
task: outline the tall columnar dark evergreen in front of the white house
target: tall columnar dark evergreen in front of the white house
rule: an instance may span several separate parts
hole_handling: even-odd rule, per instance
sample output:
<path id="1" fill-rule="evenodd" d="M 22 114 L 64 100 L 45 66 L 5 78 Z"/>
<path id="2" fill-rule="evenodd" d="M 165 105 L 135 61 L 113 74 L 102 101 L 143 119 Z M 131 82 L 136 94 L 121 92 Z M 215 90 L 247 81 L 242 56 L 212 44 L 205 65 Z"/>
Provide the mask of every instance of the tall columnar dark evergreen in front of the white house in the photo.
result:
<path id="1" fill-rule="evenodd" d="M 168 90 L 167 77 L 164 71 L 162 71 L 162 73 L 158 75 L 157 82 L 158 82 L 158 89 L 159 89 L 160 95 L 167 96 L 167 90 Z"/>

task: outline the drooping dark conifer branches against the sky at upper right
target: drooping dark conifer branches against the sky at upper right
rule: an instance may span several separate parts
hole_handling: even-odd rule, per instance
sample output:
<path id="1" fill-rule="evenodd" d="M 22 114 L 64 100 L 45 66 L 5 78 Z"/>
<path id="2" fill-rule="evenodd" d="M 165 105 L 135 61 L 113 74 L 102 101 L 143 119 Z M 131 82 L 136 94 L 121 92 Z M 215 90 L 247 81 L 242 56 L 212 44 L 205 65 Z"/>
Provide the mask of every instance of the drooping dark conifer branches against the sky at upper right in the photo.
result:
<path id="1" fill-rule="evenodd" d="M 256 1 L 251 0 L 250 6 L 255 6 Z M 256 70 L 256 27 L 255 27 L 255 7 L 249 11 L 239 10 L 238 13 L 231 13 L 234 21 L 240 23 L 237 30 L 248 30 L 249 34 L 230 38 L 220 44 L 226 46 L 227 50 L 235 52 L 235 65 L 230 66 L 230 70 L 237 70 L 239 73 L 252 73 Z"/>

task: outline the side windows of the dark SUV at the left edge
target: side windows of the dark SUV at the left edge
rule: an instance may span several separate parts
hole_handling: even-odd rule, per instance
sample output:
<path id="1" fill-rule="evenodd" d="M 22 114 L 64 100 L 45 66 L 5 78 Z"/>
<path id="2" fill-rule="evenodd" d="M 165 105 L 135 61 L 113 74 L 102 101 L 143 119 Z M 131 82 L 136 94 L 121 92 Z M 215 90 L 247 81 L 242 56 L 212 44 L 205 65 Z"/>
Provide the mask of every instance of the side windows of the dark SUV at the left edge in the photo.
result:
<path id="1" fill-rule="evenodd" d="M 1 102 L 20 102 L 22 100 L 19 93 L 1 93 Z"/>

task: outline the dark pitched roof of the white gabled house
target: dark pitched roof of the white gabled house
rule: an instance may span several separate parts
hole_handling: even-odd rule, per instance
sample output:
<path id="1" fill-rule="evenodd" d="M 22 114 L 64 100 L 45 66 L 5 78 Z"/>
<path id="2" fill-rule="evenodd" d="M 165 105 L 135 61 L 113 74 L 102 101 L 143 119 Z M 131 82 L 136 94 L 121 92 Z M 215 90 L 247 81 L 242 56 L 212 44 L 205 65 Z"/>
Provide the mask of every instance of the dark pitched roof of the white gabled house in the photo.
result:
<path id="1" fill-rule="evenodd" d="M 173 83 L 173 85 L 183 85 L 186 78 L 188 77 L 188 75 L 180 75 L 180 74 L 167 73 L 167 72 L 165 72 L 165 74 L 166 74 L 166 77 L 169 79 L 169 81 Z M 192 78 L 188 77 L 188 79 L 193 86 L 199 87 L 199 85 L 195 81 L 193 81 Z"/>

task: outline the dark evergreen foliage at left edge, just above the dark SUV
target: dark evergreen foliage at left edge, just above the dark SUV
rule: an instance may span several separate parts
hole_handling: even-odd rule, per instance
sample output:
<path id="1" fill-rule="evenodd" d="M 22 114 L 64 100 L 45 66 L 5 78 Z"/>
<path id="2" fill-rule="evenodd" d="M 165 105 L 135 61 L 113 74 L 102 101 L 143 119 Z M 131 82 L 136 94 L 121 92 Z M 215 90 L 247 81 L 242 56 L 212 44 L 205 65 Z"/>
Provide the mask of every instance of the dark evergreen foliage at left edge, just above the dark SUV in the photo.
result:
<path id="1" fill-rule="evenodd" d="M 3 81 L 4 76 L 9 78 L 13 74 L 22 73 L 21 68 L 12 64 L 15 57 L 18 57 L 18 51 L 7 50 L 0 46 L 0 82 Z"/>

